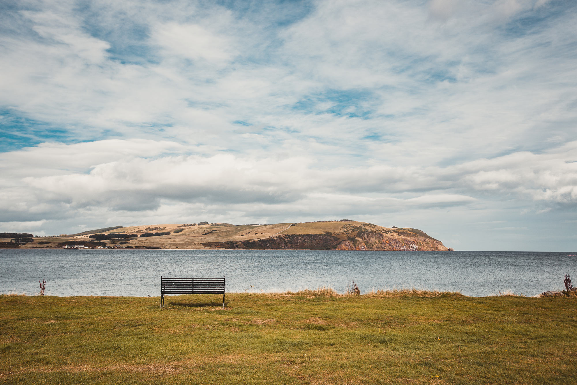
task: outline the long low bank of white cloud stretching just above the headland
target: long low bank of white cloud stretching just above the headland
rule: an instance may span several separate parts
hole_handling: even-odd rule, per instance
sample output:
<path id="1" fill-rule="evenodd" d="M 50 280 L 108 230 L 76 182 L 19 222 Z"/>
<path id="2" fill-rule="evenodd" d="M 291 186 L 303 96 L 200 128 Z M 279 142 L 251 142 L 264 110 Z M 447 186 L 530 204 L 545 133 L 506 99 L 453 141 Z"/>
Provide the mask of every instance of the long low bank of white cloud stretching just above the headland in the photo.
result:
<path id="1" fill-rule="evenodd" d="M 70 147 L 70 150 L 67 148 Z M 382 212 L 412 206 L 485 205 L 488 195 L 520 201 L 577 205 L 577 142 L 544 154 L 520 152 L 491 160 L 440 166 L 333 166 L 312 157 L 165 156 L 175 143 L 103 140 L 77 145 L 44 145 L 5 153 L 12 160 L 3 179 L 6 209 L 47 219 L 75 210 L 107 208 L 138 212 L 168 202 L 226 205 L 274 211 L 294 205 L 303 212 Z M 67 167 L 78 153 L 91 162 Z M 66 154 L 66 157 L 62 157 Z M 35 176 L 30 165 L 43 159 Z M 20 160 L 18 162 L 17 160 Z M 5 173 L 8 175 L 8 173 Z M 493 198 L 493 199 L 494 199 Z M 179 203 L 180 202 L 180 203 Z M 335 209 L 338 208 L 338 209 Z M 346 209 L 349 208 L 349 209 Z"/>

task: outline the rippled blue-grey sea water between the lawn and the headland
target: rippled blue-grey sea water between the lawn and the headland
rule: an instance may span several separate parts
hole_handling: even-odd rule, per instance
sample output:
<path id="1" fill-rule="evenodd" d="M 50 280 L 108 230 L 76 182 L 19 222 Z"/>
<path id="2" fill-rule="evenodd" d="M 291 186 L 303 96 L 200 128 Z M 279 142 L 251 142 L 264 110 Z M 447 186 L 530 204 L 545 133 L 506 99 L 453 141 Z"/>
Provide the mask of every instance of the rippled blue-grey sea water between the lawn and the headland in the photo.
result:
<path id="1" fill-rule="evenodd" d="M 0 249 L 0 293 L 160 295 L 160 276 L 222 277 L 227 292 L 331 286 L 417 287 L 485 296 L 535 295 L 577 283 L 573 253 L 516 251 L 10 250 Z M 577 286 L 577 285 L 576 285 Z"/>

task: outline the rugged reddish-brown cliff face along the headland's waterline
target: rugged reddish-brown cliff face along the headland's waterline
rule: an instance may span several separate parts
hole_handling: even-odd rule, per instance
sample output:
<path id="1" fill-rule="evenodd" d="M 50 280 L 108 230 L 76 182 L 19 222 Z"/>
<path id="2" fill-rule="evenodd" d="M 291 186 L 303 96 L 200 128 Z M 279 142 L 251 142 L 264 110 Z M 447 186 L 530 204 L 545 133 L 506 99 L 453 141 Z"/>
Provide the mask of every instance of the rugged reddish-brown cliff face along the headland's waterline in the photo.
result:
<path id="1" fill-rule="evenodd" d="M 373 225 L 374 226 L 374 225 Z M 440 250 L 447 247 L 417 229 L 397 231 L 358 230 L 337 234 L 286 234 L 255 240 L 205 242 L 203 246 L 222 249 L 288 249 L 288 250 Z"/>

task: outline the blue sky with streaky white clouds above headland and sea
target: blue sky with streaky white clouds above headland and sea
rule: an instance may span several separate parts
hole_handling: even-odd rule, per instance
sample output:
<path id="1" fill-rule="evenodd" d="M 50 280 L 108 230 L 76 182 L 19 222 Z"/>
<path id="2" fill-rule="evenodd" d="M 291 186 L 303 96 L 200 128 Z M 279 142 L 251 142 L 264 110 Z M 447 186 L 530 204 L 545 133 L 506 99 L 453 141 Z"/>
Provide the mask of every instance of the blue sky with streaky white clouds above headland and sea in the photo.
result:
<path id="1" fill-rule="evenodd" d="M 0 231 L 353 219 L 577 250 L 577 3 L 0 3 Z"/>

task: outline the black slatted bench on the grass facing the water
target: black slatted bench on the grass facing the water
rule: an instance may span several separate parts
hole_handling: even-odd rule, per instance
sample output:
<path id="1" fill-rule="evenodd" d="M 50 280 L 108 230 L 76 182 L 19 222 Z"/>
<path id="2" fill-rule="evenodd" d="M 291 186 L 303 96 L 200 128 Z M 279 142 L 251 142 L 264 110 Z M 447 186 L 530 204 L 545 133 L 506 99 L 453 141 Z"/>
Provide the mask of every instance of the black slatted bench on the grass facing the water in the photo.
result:
<path id="1" fill-rule="evenodd" d="M 164 294 L 222 294 L 224 309 L 224 277 L 222 278 L 163 278 L 160 276 L 160 308 L 164 308 Z"/>

